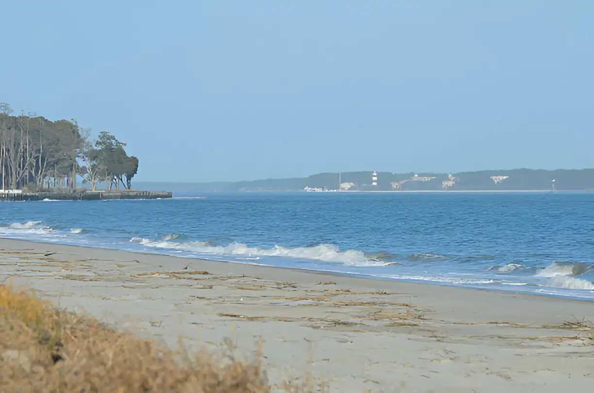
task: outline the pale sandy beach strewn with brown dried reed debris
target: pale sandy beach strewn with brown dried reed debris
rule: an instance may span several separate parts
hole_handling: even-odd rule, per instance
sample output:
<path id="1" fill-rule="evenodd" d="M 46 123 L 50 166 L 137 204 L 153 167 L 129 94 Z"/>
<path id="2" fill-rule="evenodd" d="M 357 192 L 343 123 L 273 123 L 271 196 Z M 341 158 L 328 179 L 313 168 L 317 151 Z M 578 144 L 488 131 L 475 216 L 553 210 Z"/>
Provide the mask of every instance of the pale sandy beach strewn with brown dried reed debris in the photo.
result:
<path id="1" fill-rule="evenodd" d="M 0 281 L 188 351 L 226 337 L 273 384 L 558 392 L 594 382 L 594 303 L 0 239 Z"/>

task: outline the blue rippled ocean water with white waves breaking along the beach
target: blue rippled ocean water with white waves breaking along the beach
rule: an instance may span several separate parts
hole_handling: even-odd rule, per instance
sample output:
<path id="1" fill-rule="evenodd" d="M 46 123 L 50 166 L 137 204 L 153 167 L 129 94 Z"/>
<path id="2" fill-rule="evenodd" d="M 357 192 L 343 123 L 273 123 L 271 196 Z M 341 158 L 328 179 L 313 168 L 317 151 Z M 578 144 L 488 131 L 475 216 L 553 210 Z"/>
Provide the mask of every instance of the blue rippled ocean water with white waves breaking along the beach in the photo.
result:
<path id="1" fill-rule="evenodd" d="M 594 300 L 594 193 L 2 202 L 0 237 Z"/>

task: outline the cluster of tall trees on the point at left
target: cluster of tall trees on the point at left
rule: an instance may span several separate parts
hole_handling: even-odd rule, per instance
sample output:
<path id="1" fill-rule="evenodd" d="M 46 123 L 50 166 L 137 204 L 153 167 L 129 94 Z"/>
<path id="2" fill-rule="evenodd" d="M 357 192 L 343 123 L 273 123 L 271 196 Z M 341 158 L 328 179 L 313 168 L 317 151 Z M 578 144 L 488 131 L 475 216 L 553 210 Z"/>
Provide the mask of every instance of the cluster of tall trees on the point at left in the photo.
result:
<path id="1" fill-rule="evenodd" d="M 138 159 L 128 156 L 126 144 L 109 132 L 92 140 L 90 129 L 74 120 L 12 113 L 9 104 L 0 103 L 1 189 L 74 191 L 78 177 L 93 191 L 100 183 L 131 188 Z"/>

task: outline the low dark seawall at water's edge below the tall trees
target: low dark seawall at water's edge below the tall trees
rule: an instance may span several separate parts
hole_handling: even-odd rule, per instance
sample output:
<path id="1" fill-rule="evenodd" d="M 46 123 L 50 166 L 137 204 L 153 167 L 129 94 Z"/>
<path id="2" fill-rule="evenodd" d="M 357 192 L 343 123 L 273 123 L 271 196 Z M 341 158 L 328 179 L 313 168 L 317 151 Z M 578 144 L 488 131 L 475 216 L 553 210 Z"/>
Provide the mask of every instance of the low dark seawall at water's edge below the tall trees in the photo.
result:
<path id="1" fill-rule="evenodd" d="M 0 201 L 104 201 L 112 199 L 168 199 L 171 191 L 97 190 L 78 189 L 63 192 L 26 192 L 0 190 Z"/>

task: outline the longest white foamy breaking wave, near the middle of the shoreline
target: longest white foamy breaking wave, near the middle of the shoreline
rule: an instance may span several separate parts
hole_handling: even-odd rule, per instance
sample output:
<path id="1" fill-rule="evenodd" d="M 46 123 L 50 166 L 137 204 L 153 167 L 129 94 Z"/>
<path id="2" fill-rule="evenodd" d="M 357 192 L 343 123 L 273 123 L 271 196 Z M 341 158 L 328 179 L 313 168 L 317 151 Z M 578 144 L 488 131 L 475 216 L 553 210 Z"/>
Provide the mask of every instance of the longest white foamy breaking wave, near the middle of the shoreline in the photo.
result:
<path id="1" fill-rule="evenodd" d="M 273 248 L 249 247 L 244 243 L 231 243 L 228 246 L 215 246 L 208 242 L 176 243 L 168 241 L 155 241 L 134 237 L 131 242 L 143 246 L 165 249 L 184 250 L 188 252 L 213 254 L 213 255 L 241 255 L 241 256 L 285 256 L 288 258 L 316 259 L 325 262 L 338 262 L 350 266 L 383 266 L 387 262 L 369 259 L 361 251 L 340 251 L 335 245 L 317 245 L 311 247 L 282 247 Z"/>

